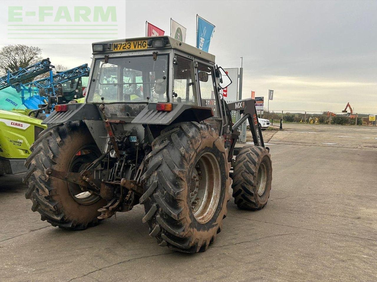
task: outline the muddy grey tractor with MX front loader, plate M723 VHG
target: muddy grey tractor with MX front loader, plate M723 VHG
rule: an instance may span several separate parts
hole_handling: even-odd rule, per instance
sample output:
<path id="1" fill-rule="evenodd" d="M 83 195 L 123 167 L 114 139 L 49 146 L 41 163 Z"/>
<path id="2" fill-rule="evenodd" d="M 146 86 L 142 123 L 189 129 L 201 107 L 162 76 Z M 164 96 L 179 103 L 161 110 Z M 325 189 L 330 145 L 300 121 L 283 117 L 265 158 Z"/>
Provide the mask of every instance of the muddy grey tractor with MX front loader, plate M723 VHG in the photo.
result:
<path id="1" fill-rule="evenodd" d="M 272 167 L 255 100 L 222 99 L 231 80 L 215 56 L 169 36 L 92 50 L 85 103 L 55 106 L 25 162 L 41 220 L 82 230 L 140 203 L 160 246 L 196 253 L 221 231 L 230 187 L 239 208 L 266 205 Z M 245 120 L 254 145 L 236 147 Z"/>

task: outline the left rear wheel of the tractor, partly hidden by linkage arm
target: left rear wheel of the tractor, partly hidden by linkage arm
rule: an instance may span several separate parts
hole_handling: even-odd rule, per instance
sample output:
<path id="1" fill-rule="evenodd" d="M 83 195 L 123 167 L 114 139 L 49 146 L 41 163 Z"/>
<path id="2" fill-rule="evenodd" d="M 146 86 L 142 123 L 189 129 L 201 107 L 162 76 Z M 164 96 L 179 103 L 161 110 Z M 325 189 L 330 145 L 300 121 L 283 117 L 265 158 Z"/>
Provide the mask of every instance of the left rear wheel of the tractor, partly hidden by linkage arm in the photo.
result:
<path id="1" fill-rule="evenodd" d="M 32 211 L 41 214 L 53 226 L 82 230 L 98 224 L 97 209 L 106 201 L 80 185 L 44 173 L 46 168 L 80 172 L 100 156 L 89 130 L 83 122 L 67 122 L 44 130 L 31 147 L 26 159 L 24 182 L 26 199 L 33 202 Z"/>

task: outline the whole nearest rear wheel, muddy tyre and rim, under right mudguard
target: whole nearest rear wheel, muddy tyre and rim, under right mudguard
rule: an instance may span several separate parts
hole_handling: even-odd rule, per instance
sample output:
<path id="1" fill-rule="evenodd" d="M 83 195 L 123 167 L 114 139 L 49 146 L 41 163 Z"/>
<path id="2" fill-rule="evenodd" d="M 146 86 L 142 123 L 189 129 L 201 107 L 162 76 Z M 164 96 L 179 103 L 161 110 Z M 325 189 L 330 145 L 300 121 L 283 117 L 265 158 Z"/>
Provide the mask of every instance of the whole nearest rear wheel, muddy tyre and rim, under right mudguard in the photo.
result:
<path id="1" fill-rule="evenodd" d="M 224 139 L 209 124 L 181 123 L 152 144 L 142 176 L 149 235 L 179 252 L 205 251 L 227 212 L 230 163 Z"/>

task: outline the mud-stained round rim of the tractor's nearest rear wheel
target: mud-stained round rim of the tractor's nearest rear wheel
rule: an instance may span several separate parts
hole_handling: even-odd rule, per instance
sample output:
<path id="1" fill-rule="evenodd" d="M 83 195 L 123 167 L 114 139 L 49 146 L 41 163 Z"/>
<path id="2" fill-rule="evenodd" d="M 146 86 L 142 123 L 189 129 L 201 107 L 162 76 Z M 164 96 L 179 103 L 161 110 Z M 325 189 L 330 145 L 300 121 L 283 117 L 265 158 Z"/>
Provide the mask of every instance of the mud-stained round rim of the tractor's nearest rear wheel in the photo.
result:
<path id="1" fill-rule="evenodd" d="M 191 179 L 191 209 L 195 219 L 204 224 L 215 214 L 220 199 L 220 165 L 215 155 L 204 153 L 196 163 Z"/>

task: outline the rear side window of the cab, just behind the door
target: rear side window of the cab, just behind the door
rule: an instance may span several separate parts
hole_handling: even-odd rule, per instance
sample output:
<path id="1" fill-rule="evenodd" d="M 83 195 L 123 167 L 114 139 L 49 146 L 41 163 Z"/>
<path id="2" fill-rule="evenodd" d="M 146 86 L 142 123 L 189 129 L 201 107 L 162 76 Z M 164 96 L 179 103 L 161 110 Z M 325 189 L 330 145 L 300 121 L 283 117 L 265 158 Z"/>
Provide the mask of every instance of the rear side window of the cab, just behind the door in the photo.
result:
<path id="1" fill-rule="evenodd" d="M 174 65 L 173 102 L 198 105 L 193 61 L 181 56 L 176 56 L 176 61 L 177 64 Z"/>

